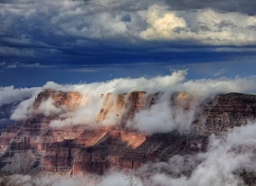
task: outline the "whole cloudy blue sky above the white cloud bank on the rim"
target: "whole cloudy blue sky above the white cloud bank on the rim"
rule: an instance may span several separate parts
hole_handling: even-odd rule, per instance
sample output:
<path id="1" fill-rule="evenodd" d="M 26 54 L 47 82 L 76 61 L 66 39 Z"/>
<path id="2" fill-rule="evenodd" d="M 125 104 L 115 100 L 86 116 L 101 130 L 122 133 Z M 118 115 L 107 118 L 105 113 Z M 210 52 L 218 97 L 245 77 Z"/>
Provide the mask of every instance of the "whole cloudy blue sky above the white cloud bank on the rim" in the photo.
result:
<path id="1" fill-rule="evenodd" d="M 254 0 L 0 1 L 0 87 L 254 75 Z"/>

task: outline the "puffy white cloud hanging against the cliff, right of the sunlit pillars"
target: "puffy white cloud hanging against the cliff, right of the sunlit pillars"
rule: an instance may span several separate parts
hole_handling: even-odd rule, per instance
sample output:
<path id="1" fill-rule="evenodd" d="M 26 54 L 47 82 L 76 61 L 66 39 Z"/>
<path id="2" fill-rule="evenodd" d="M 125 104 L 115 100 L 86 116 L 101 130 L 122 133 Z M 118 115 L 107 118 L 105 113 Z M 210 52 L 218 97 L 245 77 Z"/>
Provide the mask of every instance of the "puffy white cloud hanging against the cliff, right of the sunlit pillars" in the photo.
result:
<path id="1" fill-rule="evenodd" d="M 189 109 L 185 110 L 182 100 L 181 102 L 178 99 L 171 101 L 171 96 L 169 92 L 163 94 L 155 105 L 136 113 L 134 119 L 127 125 L 148 134 L 173 130 L 181 133 L 188 132 L 195 119 L 198 103 L 191 103 Z M 180 105 L 174 106 L 173 102 L 179 102 Z"/>

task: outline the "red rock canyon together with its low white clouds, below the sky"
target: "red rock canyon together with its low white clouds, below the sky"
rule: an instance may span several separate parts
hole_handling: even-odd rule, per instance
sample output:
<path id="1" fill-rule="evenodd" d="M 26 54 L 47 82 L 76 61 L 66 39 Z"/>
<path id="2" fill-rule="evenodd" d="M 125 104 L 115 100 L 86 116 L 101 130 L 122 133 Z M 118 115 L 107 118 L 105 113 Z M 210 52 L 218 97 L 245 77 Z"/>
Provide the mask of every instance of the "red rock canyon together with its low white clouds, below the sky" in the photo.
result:
<path id="1" fill-rule="evenodd" d="M 1 87 L 0 183 L 255 185 L 256 78 L 186 75 Z"/>

